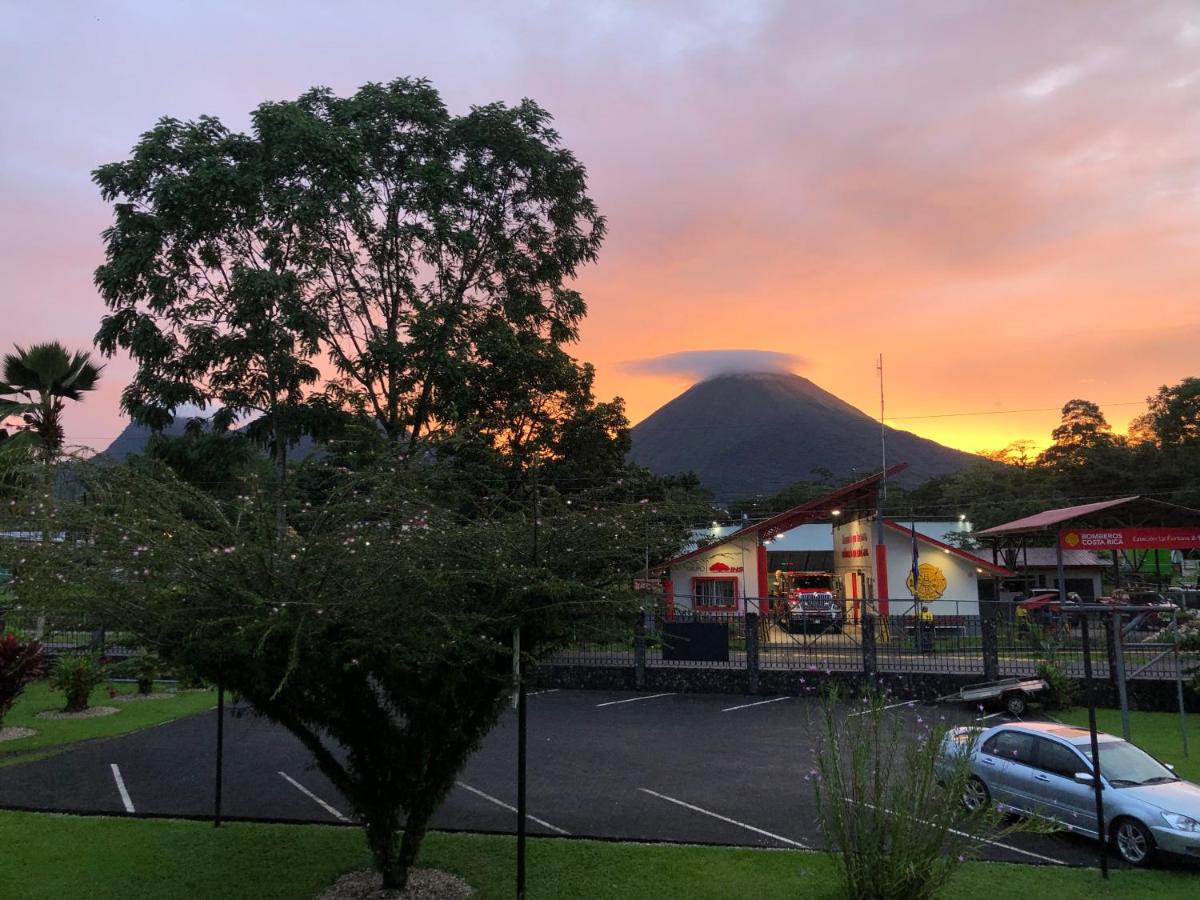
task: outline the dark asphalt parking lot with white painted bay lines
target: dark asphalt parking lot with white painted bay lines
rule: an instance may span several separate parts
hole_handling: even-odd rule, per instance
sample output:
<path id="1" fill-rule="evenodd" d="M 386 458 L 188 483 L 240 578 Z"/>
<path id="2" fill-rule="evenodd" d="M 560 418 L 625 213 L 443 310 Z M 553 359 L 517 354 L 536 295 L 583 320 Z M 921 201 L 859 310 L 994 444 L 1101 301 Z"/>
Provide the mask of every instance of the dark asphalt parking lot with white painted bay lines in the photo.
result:
<path id="1" fill-rule="evenodd" d="M 536 691 L 529 697 L 532 834 L 820 848 L 812 786 L 816 701 L 696 694 Z M 968 721 L 961 708 L 913 718 Z M 0 806 L 206 817 L 216 712 L 0 769 Z M 1000 721 L 991 718 L 988 724 Z M 434 817 L 443 829 L 511 833 L 516 716 L 505 714 Z M 227 713 L 223 811 L 229 817 L 349 822 L 340 793 L 286 730 Z M 1092 865 L 1069 834 L 1006 838 L 985 856 Z"/>

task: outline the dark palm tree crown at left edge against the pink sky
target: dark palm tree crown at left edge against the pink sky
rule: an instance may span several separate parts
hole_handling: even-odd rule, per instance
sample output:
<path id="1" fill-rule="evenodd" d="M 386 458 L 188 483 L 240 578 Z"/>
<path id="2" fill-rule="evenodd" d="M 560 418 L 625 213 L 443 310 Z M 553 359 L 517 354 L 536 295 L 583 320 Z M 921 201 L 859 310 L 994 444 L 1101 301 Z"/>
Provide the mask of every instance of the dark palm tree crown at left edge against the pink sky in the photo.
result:
<path id="1" fill-rule="evenodd" d="M 25 430 L 37 437 L 42 461 L 50 466 L 62 454 L 64 401 L 83 400 L 95 390 L 103 366 L 94 365 L 90 354 L 70 353 L 58 341 L 14 349 L 4 358 L 0 421 L 19 415 Z"/>

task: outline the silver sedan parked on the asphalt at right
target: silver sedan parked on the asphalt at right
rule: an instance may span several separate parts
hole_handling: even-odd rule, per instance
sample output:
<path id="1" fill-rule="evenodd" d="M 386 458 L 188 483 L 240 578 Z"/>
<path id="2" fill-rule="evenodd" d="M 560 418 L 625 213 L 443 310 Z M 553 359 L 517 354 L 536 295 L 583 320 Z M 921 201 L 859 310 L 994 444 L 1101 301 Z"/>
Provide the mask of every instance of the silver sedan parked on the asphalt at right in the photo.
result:
<path id="1" fill-rule="evenodd" d="M 1145 865 L 1156 851 L 1200 859 L 1200 786 L 1133 744 L 1099 736 L 1105 833 L 1117 854 Z M 1088 732 L 1055 722 L 953 728 L 942 758 L 970 752 L 962 802 L 1054 821 L 1098 838 Z"/>

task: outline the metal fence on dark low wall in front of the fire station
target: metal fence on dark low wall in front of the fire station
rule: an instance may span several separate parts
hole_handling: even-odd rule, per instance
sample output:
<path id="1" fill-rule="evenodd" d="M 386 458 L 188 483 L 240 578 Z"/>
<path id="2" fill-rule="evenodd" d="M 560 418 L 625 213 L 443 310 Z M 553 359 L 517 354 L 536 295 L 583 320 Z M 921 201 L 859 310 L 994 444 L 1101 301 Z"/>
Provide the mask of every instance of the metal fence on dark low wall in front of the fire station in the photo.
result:
<path id="1" fill-rule="evenodd" d="M 616 617 L 600 635 L 578 641 L 550 661 L 562 665 L 750 668 L 865 673 L 953 673 L 980 679 L 1033 674 L 1052 660 L 1084 676 L 1082 620 L 1078 616 L 1019 614 L 1013 604 L 938 604 L 922 616 L 896 600 L 847 606 L 838 622 L 791 622 L 769 601 L 749 599 L 750 613 L 696 611 L 658 599 L 642 617 Z M 762 608 L 762 614 L 752 612 Z M 962 612 L 958 612 L 962 610 Z M 1174 679 L 1200 665 L 1178 653 L 1163 614 L 1129 612 L 1088 617 L 1092 673 L 1129 679 Z M 696 628 L 701 626 L 701 628 Z"/>

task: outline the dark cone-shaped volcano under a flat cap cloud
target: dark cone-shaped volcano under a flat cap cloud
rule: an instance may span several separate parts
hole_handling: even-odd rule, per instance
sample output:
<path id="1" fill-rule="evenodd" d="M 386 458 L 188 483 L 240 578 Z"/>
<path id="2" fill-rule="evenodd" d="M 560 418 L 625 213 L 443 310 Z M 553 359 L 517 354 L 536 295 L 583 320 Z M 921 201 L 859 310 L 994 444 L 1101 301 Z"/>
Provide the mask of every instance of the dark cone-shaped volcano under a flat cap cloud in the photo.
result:
<path id="1" fill-rule="evenodd" d="M 667 475 L 695 472 L 718 499 L 770 494 L 796 481 L 880 469 L 880 422 L 808 378 L 775 372 L 722 374 L 692 385 L 631 432 L 629 458 Z M 974 458 L 907 431 L 887 428 L 888 463 L 917 485 Z"/>

